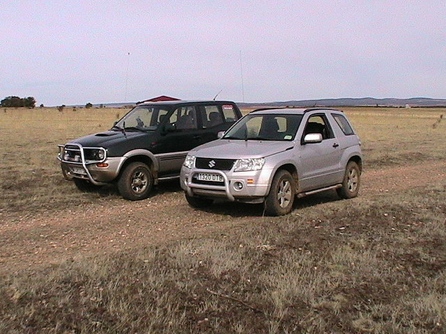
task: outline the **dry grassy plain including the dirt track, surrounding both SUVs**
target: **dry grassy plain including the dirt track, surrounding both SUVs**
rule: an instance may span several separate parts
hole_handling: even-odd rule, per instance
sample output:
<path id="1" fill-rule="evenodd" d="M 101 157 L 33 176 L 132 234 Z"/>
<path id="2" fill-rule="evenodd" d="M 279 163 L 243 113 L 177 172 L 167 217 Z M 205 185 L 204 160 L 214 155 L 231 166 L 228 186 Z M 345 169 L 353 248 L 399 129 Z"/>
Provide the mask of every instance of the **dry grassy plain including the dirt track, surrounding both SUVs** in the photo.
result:
<path id="1" fill-rule="evenodd" d="M 56 145 L 125 109 L 0 109 L 0 333 L 446 333 L 446 109 L 344 111 L 360 196 L 263 217 L 63 180 Z"/>

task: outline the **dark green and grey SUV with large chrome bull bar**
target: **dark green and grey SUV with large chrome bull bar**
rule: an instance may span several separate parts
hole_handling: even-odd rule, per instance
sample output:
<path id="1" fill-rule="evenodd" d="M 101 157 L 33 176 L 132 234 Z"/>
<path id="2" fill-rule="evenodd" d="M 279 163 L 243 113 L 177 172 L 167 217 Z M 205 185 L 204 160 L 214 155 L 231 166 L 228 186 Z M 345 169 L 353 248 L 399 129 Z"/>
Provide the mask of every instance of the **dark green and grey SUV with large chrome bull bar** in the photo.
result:
<path id="1" fill-rule="evenodd" d="M 59 145 L 64 177 L 81 190 L 116 182 L 123 198 L 147 198 L 153 184 L 180 175 L 187 152 L 241 118 L 229 101 L 139 104 L 112 129 Z"/>

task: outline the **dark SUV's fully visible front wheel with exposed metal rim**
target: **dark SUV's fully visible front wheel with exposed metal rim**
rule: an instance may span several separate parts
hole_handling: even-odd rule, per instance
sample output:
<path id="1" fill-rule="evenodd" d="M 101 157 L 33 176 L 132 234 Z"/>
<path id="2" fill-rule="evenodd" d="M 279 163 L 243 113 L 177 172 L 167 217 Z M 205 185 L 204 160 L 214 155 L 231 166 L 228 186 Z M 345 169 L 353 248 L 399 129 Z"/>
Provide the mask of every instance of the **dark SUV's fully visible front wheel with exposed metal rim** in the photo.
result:
<path id="1" fill-rule="evenodd" d="M 123 170 L 118 180 L 118 191 L 126 200 L 144 200 L 153 187 L 153 175 L 142 162 L 132 162 Z"/>

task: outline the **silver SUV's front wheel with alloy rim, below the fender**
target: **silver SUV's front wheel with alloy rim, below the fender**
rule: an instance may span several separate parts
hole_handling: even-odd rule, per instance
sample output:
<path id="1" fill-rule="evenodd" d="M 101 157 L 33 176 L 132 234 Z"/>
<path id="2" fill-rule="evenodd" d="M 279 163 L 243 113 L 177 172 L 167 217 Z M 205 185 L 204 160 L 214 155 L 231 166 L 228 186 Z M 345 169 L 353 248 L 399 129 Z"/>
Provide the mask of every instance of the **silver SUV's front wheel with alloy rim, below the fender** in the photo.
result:
<path id="1" fill-rule="evenodd" d="M 279 170 L 272 179 L 270 193 L 265 200 L 268 216 L 282 216 L 293 209 L 295 182 L 287 170 Z"/>

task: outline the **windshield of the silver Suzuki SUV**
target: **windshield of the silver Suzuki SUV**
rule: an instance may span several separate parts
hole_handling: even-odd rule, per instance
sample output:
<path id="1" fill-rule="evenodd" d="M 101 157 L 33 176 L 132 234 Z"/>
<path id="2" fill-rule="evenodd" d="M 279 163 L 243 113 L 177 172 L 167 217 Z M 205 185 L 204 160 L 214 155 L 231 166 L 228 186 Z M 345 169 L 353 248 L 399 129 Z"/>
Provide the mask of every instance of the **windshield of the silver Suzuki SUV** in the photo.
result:
<path id="1" fill-rule="evenodd" d="M 229 132 L 226 132 L 223 139 L 292 141 L 301 121 L 302 115 L 248 115 L 229 129 Z"/>

